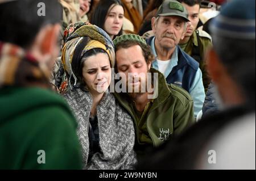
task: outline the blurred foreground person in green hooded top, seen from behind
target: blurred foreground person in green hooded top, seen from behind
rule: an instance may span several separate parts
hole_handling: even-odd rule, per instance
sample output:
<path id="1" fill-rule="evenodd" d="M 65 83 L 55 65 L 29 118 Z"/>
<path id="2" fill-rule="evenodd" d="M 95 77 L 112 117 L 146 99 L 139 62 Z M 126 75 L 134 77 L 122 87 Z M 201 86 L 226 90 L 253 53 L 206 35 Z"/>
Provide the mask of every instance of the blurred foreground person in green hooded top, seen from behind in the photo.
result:
<path id="1" fill-rule="evenodd" d="M 0 1 L 0 169 L 81 169 L 76 119 L 49 84 L 62 12 L 55 0 Z"/>

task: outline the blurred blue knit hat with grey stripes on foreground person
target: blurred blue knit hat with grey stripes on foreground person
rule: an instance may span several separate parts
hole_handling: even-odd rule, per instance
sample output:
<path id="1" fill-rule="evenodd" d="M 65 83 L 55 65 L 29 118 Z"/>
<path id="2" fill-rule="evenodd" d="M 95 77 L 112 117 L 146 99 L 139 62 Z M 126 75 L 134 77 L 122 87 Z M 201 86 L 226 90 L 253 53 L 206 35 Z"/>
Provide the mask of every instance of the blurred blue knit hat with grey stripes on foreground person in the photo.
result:
<path id="1" fill-rule="evenodd" d="M 255 0 L 226 3 L 213 19 L 210 32 L 234 39 L 255 39 Z"/>

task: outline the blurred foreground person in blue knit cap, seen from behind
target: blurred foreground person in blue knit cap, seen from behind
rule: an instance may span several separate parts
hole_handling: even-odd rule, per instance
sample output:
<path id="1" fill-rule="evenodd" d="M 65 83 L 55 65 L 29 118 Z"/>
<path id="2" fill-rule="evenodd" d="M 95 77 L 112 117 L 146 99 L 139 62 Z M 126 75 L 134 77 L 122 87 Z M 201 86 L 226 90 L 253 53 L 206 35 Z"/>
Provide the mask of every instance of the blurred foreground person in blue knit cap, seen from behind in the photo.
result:
<path id="1" fill-rule="evenodd" d="M 255 170 L 255 1 L 228 2 L 210 30 L 208 70 L 221 111 L 168 142 L 143 169 Z"/>

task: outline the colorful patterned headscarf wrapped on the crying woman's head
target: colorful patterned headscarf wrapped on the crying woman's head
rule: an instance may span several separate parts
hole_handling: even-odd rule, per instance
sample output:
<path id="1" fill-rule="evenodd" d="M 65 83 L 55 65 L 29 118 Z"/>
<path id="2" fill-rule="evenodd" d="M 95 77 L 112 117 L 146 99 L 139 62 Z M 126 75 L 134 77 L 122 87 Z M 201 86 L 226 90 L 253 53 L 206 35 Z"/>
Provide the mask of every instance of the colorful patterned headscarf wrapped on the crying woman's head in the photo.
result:
<path id="1" fill-rule="evenodd" d="M 86 52 L 94 48 L 104 50 L 114 68 L 115 52 L 112 39 L 101 28 L 90 23 L 73 23 L 64 31 L 64 47 L 61 54 L 64 70 L 69 78 L 73 79 L 73 86 L 77 83 L 77 72 L 81 66 L 81 58 Z"/>

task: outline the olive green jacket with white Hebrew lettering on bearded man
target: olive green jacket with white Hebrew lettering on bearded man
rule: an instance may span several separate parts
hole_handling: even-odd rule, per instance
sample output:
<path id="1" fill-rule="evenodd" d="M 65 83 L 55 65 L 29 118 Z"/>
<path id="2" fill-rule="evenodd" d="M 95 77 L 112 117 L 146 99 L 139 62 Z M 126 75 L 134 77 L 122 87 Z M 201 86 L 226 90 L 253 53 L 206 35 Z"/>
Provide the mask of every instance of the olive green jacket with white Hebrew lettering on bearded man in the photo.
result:
<path id="1" fill-rule="evenodd" d="M 151 68 L 150 71 L 158 74 L 158 96 L 151 101 L 140 119 L 133 108 L 133 100 L 127 93 L 115 93 L 114 95 L 133 117 L 137 144 L 159 146 L 195 123 L 193 100 L 181 87 L 168 85 L 164 75 L 158 70 Z M 141 124 L 145 125 L 144 129 Z M 144 140 L 141 132 L 147 132 L 151 141 Z"/>

